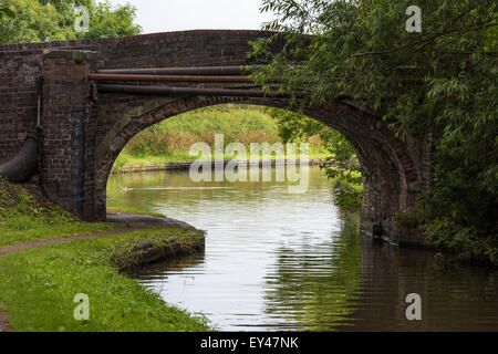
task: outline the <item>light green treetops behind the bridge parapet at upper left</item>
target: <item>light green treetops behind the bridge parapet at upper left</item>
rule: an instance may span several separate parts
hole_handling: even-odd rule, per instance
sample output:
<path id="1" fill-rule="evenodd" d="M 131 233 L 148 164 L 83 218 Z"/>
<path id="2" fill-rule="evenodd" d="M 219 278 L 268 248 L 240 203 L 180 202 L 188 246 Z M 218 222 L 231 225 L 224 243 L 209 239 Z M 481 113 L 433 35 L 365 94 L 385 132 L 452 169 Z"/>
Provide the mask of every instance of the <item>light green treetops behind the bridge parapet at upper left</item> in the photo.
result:
<path id="1" fill-rule="evenodd" d="M 77 6 L 89 9 L 90 31 L 86 33 L 74 30 L 80 17 L 74 13 Z M 0 43 L 133 35 L 142 30 L 133 23 L 134 19 L 134 7 L 113 8 L 107 0 L 0 0 Z"/>

